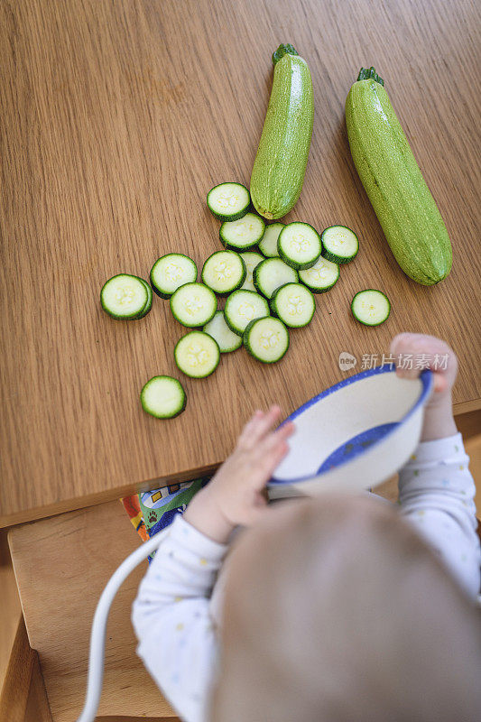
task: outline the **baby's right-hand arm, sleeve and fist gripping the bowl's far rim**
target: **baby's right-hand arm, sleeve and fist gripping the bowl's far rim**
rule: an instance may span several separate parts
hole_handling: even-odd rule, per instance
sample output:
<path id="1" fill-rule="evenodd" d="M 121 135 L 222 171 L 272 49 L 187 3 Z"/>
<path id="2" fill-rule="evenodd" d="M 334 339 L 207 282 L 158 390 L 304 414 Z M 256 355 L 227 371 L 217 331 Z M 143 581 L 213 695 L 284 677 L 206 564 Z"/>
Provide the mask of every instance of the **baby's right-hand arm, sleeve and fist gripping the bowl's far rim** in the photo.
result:
<path id="1" fill-rule="evenodd" d="M 394 356 L 448 356 L 447 368 L 434 372 L 434 388 L 426 404 L 421 443 L 399 475 L 399 501 L 404 514 L 470 597 L 479 592 L 481 554 L 476 534 L 476 488 L 468 470 L 461 434 L 452 414 L 451 389 L 458 362 L 444 341 L 421 334 L 393 339 Z M 411 369 L 397 373 L 419 375 Z"/>

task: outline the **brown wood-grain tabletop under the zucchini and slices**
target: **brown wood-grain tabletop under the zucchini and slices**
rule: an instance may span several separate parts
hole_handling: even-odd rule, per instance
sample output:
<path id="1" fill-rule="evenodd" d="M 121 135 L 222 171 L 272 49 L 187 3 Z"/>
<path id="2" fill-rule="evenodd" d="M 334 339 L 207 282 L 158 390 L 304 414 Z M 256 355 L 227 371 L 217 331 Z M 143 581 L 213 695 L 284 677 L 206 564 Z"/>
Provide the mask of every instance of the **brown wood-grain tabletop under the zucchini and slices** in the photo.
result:
<path id="1" fill-rule="evenodd" d="M 358 370 L 402 330 L 446 338 L 460 361 L 456 410 L 481 405 L 475 2 L 32 0 L 0 14 L 2 524 L 214 467 L 255 408 L 291 412 L 340 380 L 341 351 Z M 206 193 L 248 184 L 279 42 L 308 60 L 315 94 L 287 220 L 345 224 L 360 251 L 280 364 L 223 357 L 206 380 L 181 377 L 187 411 L 156 421 L 139 392 L 152 375 L 181 376 L 183 329 L 158 299 L 142 321 L 109 319 L 99 290 L 114 273 L 146 278 L 168 251 L 201 264 L 220 248 Z M 350 157 L 344 102 L 371 64 L 452 239 L 453 271 L 434 288 L 395 264 Z M 379 329 L 349 312 L 373 286 L 393 303 Z"/>

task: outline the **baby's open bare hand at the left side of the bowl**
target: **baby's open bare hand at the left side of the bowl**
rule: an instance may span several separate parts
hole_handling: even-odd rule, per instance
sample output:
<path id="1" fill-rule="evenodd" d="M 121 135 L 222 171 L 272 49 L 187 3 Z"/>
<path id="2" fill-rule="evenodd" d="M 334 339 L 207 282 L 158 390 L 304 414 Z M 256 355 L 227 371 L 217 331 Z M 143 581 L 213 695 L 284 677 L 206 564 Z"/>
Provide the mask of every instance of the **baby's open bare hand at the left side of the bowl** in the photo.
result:
<path id="1" fill-rule="evenodd" d="M 237 524 L 249 526 L 264 514 L 264 487 L 286 455 L 287 439 L 294 430 L 289 422 L 273 431 L 280 413 L 278 406 L 267 413 L 254 413 L 236 449 L 208 486 L 194 496 L 184 514 L 187 522 L 216 542 L 227 542 Z"/>

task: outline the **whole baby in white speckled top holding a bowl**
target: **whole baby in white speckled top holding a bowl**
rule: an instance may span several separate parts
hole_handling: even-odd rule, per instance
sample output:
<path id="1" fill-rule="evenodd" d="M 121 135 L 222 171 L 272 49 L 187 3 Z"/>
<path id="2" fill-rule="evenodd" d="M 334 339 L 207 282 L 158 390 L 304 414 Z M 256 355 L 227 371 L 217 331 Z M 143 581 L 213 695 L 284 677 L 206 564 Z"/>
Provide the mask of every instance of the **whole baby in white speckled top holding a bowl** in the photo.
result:
<path id="1" fill-rule="evenodd" d="M 391 352 L 448 355 L 400 470 L 399 507 L 375 495 L 267 504 L 293 431 L 273 430 L 274 406 L 255 412 L 171 524 L 133 623 L 139 655 L 186 722 L 479 718 L 480 549 L 452 415 L 458 363 L 418 334 L 397 336 Z M 253 529 L 223 564 L 239 526 Z"/>

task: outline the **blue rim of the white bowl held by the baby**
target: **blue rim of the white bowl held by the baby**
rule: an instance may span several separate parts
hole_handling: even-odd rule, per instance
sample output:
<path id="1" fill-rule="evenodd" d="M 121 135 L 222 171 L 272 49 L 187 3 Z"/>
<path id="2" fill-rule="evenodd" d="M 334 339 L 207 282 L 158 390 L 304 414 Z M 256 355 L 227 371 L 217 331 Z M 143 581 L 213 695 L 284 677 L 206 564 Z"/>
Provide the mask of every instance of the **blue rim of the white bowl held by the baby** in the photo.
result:
<path id="1" fill-rule="evenodd" d="M 299 409 L 296 409 L 295 412 L 292 412 L 290 416 L 288 416 L 284 421 L 282 421 L 281 426 L 284 423 L 287 423 L 287 421 L 294 421 L 302 412 L 305 412 L 307 409 L 312 406 L 312 404 L 319 402 L 320 399 L 325 398 L 330 393 L 335 393 L 338 391 L 338 389 L 344 388 L 344 386 L 348 386 L 349 384 L 354 384 L 356 381 L 360 381 L 363 378 L 366 378 L 368 376 L 378 375 L 378 374 L 395 374 L 395 368 L 393 368 L 391 365 L 386 366 L 376 366 L 375 368 L 367 369 L 366 371 L 361 371 L 359 374 L 354 374 L 352 376 L 348 376 L 347 378 L 343 379 L 342 381 L 339 381 L 338 384 L 334 384 L 334 386 L 329 386 L 328 389 L 325 391 L 319 393 L 317 396 L 313 396 L 309 401 L 306 403 L 303 403 Z M 388 437 L 390 434 L 392 434 L 400 424 L 402 424 L 404 421 L 407 421 L 410 416 L 424 403 L 426 403 L 430 391 L 432 389 L 433 384 L 433 378 L 432 378 L 432 372 L 429 369 L 425 369 L 424 371 L 421 371 L 421 375 L 419 376 L 421 380 L 421 393 L 419 398 L 417 399 L 416 403 L 414 403 L 411 407 L 411 409 L 402 416 L 402 419 L 399 421 L 395 421 L 390 424 L 384 424 L 384 428 L 382 430 L 381 435 L 378 435 L 375 440 L 371 440 L 369 442 L 369 449 L 373 449 L 377 444 L 381 443 L 381 441 L 384 441 L 386 437 Z M 360 436 L 363 436 L 362 434 Z M 356 444 L 356 448 L 352 451 L 352 453 L 349 454 L 348 457 L 341 458 L 340 460 L 337 460 L 337 463 L 333 466 L 340 467 L 344 464 L 347 464 L 348 462 L 352 461 L 353 458 L 356 458 L 359 454 L 361 454 L 365 449 L 363 448 L 362 444 Z M 331 467 L 325 467 L 325 462 L 321 465 L 319 468 L 318 473 L 316 474 L 316 477 L 322 477 L 323 474 L 326 474 Z M 282 485 L 282 484 L 295 484 L 297 481 L 304 481 L 305 479 L 312 478 L 312 475 L 308 475 L 306 477 L 293 477 L 290 479 L 277 479 L 275 477 L 272 477 L 269 481 L 269 485 Z"/>

